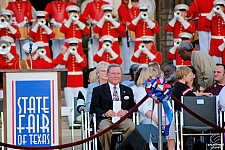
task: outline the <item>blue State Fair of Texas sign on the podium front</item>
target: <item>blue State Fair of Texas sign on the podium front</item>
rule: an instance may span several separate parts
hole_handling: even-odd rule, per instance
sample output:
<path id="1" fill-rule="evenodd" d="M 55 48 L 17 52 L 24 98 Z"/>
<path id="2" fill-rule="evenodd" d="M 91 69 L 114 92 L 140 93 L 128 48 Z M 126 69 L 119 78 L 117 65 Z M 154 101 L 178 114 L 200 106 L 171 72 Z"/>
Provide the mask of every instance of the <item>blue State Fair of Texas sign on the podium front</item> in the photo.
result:
<path id="1" fill-rule="evenodd" d="M 51 145 L 51 90 L 51 80 L 15 81 L 16 145 Z"/>

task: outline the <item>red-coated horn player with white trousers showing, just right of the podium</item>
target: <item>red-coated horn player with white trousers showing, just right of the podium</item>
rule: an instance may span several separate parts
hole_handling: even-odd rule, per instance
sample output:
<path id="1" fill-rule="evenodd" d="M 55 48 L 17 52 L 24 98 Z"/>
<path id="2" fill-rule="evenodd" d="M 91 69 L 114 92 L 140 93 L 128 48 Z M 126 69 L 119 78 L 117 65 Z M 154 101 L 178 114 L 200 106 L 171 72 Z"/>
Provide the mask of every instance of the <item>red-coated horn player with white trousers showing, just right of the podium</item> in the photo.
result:
<path id="1" fill-rule="evenodd" d="M 67 48 L 68 47 L 68 48 Z M 66 51 L 60 64 L 68 69 L 67 87 L 64 88 L 67 106 L 73 106 L 72 97 L 77 97 L 78 92 L 83 89 L 83 69 L 87 66 L 87 58 L 84 54 L 82 43 L 77 38 L 67 39 L 62 51 Z M 69 124 L 71 125 L 71 117 Z"/>

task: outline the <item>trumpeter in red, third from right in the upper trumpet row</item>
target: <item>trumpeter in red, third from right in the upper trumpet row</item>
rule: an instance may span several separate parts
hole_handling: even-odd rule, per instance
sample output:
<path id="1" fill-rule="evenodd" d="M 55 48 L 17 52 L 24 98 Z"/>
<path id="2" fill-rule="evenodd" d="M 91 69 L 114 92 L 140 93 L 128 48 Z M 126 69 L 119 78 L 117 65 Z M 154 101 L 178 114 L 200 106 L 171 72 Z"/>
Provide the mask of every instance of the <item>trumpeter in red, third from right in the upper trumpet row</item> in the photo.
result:
<path id="1" fill-rule="evenodd" d="M 159 33 L 160 27 L 156 21 L 152 21 L 148 16 L 149 6 L 146 4 L 139 5 L 140 13 L 137 18 L 132 20 L 128 28 L 135 32 L 136 42 L 134 46 L 134 52 L 137 51 L 138 46 L 142 43 L 142 36 L 154 36 L 155 33 Z"/>

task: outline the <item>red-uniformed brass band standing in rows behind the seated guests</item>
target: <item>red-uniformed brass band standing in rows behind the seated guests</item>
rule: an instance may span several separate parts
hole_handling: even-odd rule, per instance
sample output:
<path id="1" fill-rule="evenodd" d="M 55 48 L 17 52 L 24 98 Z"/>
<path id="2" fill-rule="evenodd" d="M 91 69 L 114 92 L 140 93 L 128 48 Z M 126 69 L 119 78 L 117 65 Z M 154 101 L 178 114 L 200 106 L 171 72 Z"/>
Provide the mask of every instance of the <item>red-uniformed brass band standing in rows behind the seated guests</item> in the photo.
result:
<path id="1" fill-rule="evenodd" d="M 83 69 L 87 65 L 95 67 L 100 61 L 123 63 L 123 73 L 129 73 L 133 63 L 162 63 L 154 36 L 164 29 L 150 19 L 155 11 L 154 1 L 121 0 L 118 17 L 107 1 L 88 1 L 82 10 L 76 2 L 53 0 L 44 11 L 35 12 L 26 0 L 9 2 L 0 13 L 0 68 L 46 69 L 63 65 L 68 69 L 68 87 L 82 87 Z M 225 64 L 224 1 L 195 0 L 190 6 L 178 4 L 173 11 L 174 16 L 165 27 L 174 38 L 168 59 L 177 66 L 191 65 L 177 50 L 181 42 L 190 41 L 194 50 Z M 89 37 L 88 57 L 82 47 L 83 36 Z"/>

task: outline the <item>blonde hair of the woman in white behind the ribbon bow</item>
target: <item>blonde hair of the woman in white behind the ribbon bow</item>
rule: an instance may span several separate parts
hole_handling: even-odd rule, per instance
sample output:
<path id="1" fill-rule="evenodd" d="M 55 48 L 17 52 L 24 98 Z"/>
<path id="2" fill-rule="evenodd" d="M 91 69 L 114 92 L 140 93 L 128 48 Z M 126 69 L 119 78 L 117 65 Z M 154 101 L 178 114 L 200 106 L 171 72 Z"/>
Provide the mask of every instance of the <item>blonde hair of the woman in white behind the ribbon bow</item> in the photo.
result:
<path id="1" fill-rule="evenodd" d="M 137 80 L 137 86 L 143 86 L 144 85 L 144 81 L 148 78 L 148 77 L 156 77 L 158 75 L 158 70 L 156 68 L 153 67 L 147 67 L 147 68 L 143 68 L 141 70 L 140 76 Z"/>

